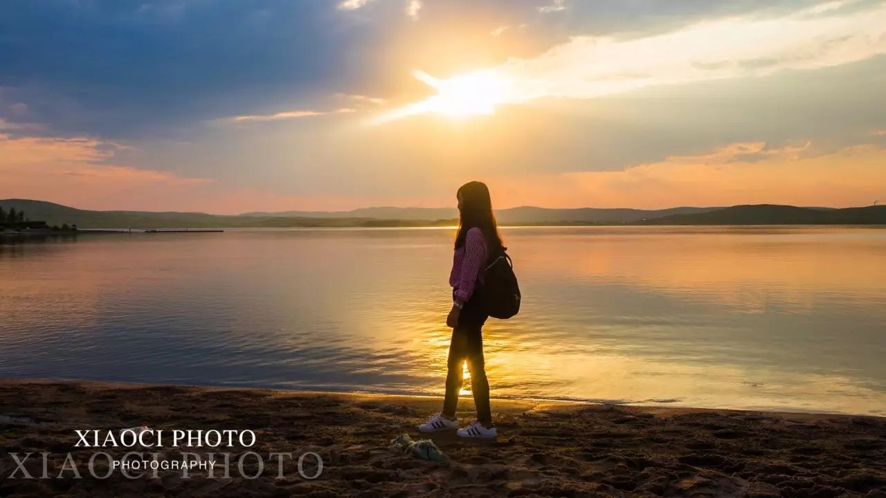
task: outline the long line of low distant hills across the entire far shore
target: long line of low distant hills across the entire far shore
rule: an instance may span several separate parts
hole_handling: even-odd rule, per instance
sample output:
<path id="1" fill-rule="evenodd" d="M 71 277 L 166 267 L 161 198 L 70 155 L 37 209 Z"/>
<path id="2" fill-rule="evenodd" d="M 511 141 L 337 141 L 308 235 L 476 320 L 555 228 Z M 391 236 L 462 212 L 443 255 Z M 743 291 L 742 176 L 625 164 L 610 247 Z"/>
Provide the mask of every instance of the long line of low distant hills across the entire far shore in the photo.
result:
<path id="1" fill-rule="evenodd" d="M 367 207 L 346 212 L 154 213 L 148 211 L 89 211 L 42 200 L 0 200 L 4 210 L 24 210 L 31 220 L 49 225 L 76 224 L 81 229 L 159 228 L 286 228 L 446 226 L 457 222 L 448 208 Z M 292 215 L 290 215 L 292 214 Z M 673 207 L 671 209 L 548 209 L 521 206 L 496 211 L 502 225 L 654 224 L 886 224 L 886 206 L 833 209 L 795 206 Z"/>

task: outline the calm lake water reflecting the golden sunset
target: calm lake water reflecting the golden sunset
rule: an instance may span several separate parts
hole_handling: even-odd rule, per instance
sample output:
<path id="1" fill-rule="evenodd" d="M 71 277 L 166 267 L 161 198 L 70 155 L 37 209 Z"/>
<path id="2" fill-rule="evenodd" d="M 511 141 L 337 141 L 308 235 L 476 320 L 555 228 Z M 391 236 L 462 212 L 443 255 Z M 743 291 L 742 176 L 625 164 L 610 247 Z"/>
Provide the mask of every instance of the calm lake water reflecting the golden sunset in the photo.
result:
<path id="1" fill-rule="evenodd" d="M 525 297 L 486 326 L 496 396 L 886 415 L 886 230 L 502 231 Z M 7 239 L 0 377 L 441 393 L 451 239 Z"/>

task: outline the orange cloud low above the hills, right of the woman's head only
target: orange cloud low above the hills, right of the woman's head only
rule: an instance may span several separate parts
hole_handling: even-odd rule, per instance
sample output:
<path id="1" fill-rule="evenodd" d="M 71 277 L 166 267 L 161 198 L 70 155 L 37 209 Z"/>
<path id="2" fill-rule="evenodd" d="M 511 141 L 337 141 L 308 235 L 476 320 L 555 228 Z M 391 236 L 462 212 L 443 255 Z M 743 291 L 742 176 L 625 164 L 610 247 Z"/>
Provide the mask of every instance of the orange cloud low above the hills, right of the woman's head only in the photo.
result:
<path id="1" fill-rule="evenodd" d="M 886 193 L 886 150 L 729 144 L 623 171 L 488 177 L 498 206 L 866 206 Z"/>

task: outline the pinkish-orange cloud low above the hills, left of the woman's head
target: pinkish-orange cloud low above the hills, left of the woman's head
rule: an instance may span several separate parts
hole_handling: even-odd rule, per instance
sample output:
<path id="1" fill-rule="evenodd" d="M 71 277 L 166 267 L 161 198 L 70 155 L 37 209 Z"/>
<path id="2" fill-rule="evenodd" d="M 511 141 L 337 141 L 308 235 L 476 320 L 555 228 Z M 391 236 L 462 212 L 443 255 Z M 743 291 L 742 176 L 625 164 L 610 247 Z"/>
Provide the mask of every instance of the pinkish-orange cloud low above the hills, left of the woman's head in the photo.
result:
<path id="1" fill-rule="evenodd" d="M 126 145 L 95 138 L 11 137 L 0 134 L 0 198 L 35 198 L 83 209 L 202 211 L 347 210 L 361 206 L 439 206 L 418 197 L 280 194 L 224 186 L 209 178 L 113 164 Z M 447 196 L 450 198 L 451 196 Z"/>

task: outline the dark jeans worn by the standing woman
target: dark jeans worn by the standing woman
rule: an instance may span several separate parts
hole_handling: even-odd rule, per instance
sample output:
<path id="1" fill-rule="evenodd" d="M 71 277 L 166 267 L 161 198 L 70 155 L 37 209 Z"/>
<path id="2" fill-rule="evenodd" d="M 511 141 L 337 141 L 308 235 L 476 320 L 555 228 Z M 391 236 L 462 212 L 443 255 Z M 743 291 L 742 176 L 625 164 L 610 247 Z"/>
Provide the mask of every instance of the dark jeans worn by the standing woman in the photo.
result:
<path id="1" fill-rule="evenodd" d="M 483 323 L 486 323 L 486 317 L 486 313 L 478 309 L 478 300 L 472 298 L 464 305 L 458 325 L 452 330 L 443 414 L 455 416 L 458 392 L 462 390 L 464 381 L 462 365 L 467 360 L 470 392 L 474 394 L 474 404 L 477 405 L 477 419 L 480 424 L 489 425 L 493 422 L 493 416 L 489 408 L 489 380 L 483 359 Z"/>

